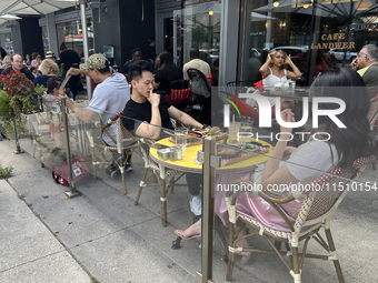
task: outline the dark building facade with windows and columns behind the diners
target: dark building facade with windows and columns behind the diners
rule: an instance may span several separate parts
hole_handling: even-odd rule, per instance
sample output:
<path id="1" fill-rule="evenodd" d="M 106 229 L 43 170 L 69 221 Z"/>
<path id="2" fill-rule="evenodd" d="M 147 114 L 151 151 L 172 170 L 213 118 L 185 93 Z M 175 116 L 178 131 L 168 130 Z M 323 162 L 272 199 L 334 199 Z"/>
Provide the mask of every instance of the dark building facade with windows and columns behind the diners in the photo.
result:
<path id="1" fill-rule="evenodd" d="M 107 0 L 89 8 L 90 51 L 107 53 L 121 71 L 131 50 L 145 50 L 155 38 L 156 52 L 171 52 L 180 67 L 198 48 L 219 85 L 258 80 L 271 49 L 290 54 L 302 72 L 297 83 L 309 85 L 328 68 L 349 67 L 362 46 L 378 43 L 378 4 L 370 0 Z M 74 8 L 13 21 L 11 31 L 14 52 L 59 54 L 64 41 L 82 53 Z"/>

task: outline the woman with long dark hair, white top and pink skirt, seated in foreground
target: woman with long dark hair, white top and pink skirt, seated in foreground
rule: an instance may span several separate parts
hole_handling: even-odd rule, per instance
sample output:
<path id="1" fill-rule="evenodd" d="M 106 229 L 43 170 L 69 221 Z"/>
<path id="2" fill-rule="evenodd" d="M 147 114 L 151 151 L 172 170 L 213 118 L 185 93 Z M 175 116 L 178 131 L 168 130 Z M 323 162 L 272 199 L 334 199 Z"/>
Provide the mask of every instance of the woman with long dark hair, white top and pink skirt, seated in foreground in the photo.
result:
<path id="1" fill-rule="evenodd" d="M 357 94 L 358 93 L 358 94 Z M 339 128 L 329 117 L 319 118 L 319 127 L 312 129 L 312 134 L 317 134 L 317 140 L 309 139 L 298 149 L 287 146 L 292 129 L 281 125 L 280 137 L 271 153 L 271 158 L 265 165 L 259 165 L 253 172 L 232 173 L 218 175 L 218 184 L 231 184 L 238 179 L 251 180 L 256 184 L 261 184 L 262 189 L 271 185 L 290 185 L 300 182 L 305 185 L 336 168 L 352 168 L 352 162 L 361 156 L 375 154 L 375 148 L 369 143 L 369 122 L 367 113 L 369 111 L 369 99 L 365 82 L 358 73 L 350 69 L 337 69 L 319 75 L 311 85 L 310 97 L 331 97 L 342 100 L 346 109 L 337 118 L 346 128 Z M 319 110 L 337 109 L 336 103 L 319 103 Z M 281 118 L 286 122 L 295 122 L 290 109 L 281 112 Z M 325 133 L 324 137 L 321 133 Z M 326 134 L 327 133 L 327 134 Z M 312 135 L 314 137 L 314 135 Z M 277 138 L 278 139 L 278 138 Z M 287 162 L 280 162 L 285 156 L 291 154 Z M 269 186 L 268 186 L 269 185 Z M 281 188 L 281 186 L 280 186 Z M 228 226 L 229 215 L 225 199 L 226 192 L 217 192 L 215 211 Z M 302 199 L 281 204 L 286 215 L 294 224 L 302 204 Z M 270 205 L 266 205 L 261 198 L 248 192 L 245 198 L 238 198 L 236 202 L 238 213 L 249 218 L 255 218 L 265 225 L 278 230 L 290 231 L 289 225 L 279 216 L 278 212 Z M 186 231 L 176 230 L 176 234 L 185 240 L 191 240 L 201 233 L 201 222 L 198 221 Z M 246 231 L 239 233 L 239 237 Z M 238 242 L 239 246 L 248 246 L 246 240 Z M 239 253 L 240 254 L 240 253 Z M 251 256 L 250 252 L 242 252 L 241 263 L 246 264 Z"/>

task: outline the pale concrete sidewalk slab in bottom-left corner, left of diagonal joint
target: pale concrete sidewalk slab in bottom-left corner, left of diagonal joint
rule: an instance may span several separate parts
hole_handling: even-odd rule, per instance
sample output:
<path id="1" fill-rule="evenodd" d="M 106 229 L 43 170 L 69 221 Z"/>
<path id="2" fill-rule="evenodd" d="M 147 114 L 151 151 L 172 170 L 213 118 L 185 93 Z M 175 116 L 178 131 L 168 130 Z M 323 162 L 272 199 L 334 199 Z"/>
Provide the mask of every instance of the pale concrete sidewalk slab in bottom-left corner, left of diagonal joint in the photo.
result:
<path id="1" fill-rule="evenodd" d="M 0 180 L 0 282 L 91 282 L 52 231 Z"/>

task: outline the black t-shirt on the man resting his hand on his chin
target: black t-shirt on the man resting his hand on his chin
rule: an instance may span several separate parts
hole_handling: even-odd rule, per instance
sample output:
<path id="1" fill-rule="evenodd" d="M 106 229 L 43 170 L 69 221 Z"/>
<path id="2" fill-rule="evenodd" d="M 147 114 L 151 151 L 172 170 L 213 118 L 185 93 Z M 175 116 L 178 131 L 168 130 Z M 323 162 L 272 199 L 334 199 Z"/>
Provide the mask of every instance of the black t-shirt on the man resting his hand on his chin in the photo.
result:
<path id="1" fill-rule="evenodd" d="M 168 109 L 171 107 L 166 97 L 160 97 L 159 111 L 161 117 L 161 127 L 165 129 L 175 130 L 170 122 Z M 135 102 L 132 99 L 125 105 L 122 114 L 122 124 L 128 130 L 133 130 L 135 121 L 127 119 L 132 118 L 141 122 L 151 122 L 151 103 L 147 100 L 145 103 Z"/>

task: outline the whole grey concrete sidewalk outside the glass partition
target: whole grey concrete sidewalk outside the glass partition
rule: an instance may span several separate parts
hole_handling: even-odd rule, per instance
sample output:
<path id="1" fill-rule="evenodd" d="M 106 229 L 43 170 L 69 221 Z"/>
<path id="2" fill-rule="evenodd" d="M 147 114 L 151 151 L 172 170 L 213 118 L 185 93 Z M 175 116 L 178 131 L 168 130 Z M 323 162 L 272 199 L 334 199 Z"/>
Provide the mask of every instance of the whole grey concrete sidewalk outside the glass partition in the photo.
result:
<path id="1" fill-rule="evenodd" d="M 0 180 L 1 283 L 195 281 L 84 195 L 67 199 L 49 169 L 11 146 L 0 142 L 0 164 L 14 168 Z"/>

